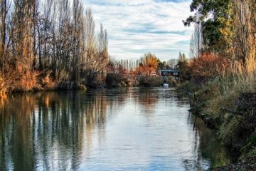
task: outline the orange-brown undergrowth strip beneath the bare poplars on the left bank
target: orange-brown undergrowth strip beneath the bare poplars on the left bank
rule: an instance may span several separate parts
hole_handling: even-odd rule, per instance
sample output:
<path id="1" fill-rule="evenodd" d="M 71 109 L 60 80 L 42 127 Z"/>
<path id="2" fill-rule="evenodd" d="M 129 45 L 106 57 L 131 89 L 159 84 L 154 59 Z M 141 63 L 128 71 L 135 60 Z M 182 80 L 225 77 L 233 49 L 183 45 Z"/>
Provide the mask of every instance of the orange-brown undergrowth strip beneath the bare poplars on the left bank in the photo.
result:
<path id="1" fill-rule="evenodd" d="M 28 92 L 41 90 L 86 90 L 85 83 L 79 83 L 70 79 L 54 79 L 50 72 L 39 71 L 16 73 L 9 72 L 0 76 L 0 98 L 6 98 L 8 93 Z"/>

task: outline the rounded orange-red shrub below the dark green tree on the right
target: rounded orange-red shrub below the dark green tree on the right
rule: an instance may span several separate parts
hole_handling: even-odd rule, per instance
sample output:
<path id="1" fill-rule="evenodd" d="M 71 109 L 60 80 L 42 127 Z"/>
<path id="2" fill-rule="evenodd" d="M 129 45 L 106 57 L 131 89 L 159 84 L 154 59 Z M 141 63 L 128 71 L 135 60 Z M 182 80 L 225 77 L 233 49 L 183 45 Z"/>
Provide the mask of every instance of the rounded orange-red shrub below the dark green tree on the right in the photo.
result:
<path id="1" fill-rule="evenodd" d="M 191 59 L 188 66 L 194 78 L 209 78 L 225 72 L 228 60 L 213 53 L 201 53 L 198 58 Z"/>

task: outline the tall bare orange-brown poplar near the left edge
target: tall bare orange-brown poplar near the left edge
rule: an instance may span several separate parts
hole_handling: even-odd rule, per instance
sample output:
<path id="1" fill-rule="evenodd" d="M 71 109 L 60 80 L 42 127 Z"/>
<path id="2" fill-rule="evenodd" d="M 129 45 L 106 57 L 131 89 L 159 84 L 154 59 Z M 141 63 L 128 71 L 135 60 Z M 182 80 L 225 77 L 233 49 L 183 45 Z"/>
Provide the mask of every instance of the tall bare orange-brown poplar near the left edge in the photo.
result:
<path id="1" fill-rule="evenodd" d="M 13 62 L 19 73 L 31 71 L 33 66 L 33 6 L 35 1 L 28 3 L 26 0 L 14 1 L 14 16 L 12 19 L 13 35 L 11 41 Z"/>

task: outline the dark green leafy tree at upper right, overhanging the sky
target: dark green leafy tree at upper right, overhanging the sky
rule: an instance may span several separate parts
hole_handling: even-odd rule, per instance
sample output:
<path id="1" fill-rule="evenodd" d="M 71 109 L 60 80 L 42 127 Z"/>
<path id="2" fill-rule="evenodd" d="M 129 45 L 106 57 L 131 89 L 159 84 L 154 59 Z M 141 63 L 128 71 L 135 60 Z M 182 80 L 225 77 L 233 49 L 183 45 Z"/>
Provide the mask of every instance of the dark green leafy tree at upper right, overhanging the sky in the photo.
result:
<path id="1" fill-rule="evenodd" d="M 226 51 L 230 48 L 230 42 L 225 38 L 227 38 L 228 35 L 233 35 L 233 28 L 230 26 L 230 21 L 233 20 L 233 11 L 230 10 L 232 6 L 232 0 L 192 1 L 191 11 L 195 11 L 195 14 L 189 16 L 183 21 L 183 24 L 185 26 L 191 26 L 192 23 L 200 25 L 201 35 L 203 37 L 203 41 L 201 42 L 204 45 L 204 51 L 213 51 L 215 53 L 225 53 L 225 56 L 228 55 Z M 224 33 L 224 31 L 226 33 Z M 193 38 L 195 38 L 195 36 L 193 36 Z M 193 45 L 195 45 L 195 43 L 193 43 Z M 191 55 L 195 52 L 193 50 Z"/>

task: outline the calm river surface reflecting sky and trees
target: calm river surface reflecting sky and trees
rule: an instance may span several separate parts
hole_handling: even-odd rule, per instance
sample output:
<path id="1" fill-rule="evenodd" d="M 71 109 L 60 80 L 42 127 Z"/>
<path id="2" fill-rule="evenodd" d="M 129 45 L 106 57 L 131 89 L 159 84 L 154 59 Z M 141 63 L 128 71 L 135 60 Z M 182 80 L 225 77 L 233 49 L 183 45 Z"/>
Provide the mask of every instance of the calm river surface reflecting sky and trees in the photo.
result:
<path id="1" fill-rule="evenodd" d="M 174 89 L 10 95 L 0 170 L 208 170 L 229 162 Z"/>

